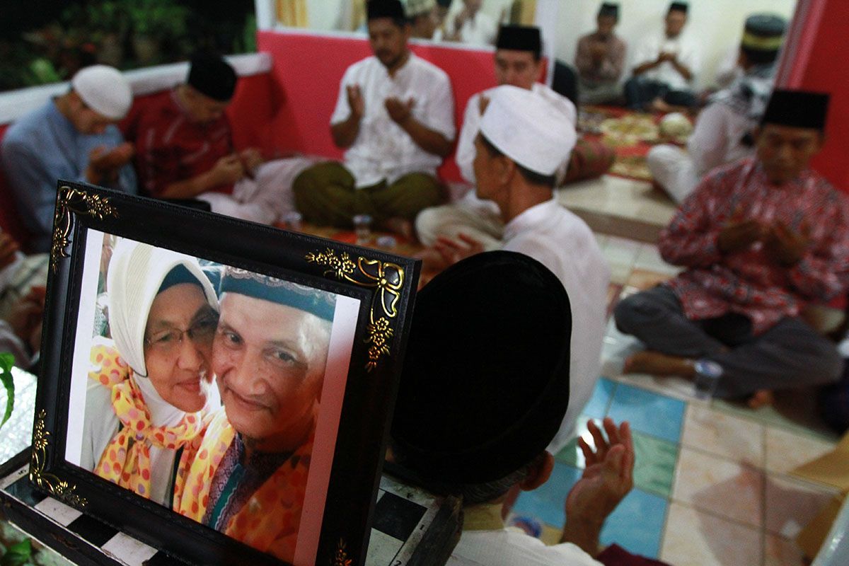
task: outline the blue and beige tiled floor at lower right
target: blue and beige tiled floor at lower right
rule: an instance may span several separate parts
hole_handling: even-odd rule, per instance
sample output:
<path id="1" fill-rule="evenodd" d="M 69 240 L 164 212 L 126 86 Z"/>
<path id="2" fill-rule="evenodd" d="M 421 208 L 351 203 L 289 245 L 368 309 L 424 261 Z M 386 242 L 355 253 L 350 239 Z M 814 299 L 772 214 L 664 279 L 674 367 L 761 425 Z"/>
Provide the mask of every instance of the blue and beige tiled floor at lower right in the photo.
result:
<path id="1" fill-rule="evenodd" d="M 597 238 L 612 272 L 611 302 L 677 272 L 653 244 Z M 774 408 L 752 411 L 697 400 L 683 379 L 622 376 L 624 357 L 638 349 L 635 339 L 610 323 L 604 377 L 579 429 L 591 442 L 586 420 L 610 416 L 630 421 L 634 431 L 634 489 L 605 524 L 602 542 L 616 541 L 676 566 L 801 565 L 793 538 L 834 492 L 789 472 L 829 451 L 835 437 L 815 422 L 790 419 Z M 545 525 L 543 540 L 555 541 L 565 496 L 582 467 L 581 451 L 572 442 L 556 455 L 552 479 L 522 493 L 513 513 L 537 518 Z"/>

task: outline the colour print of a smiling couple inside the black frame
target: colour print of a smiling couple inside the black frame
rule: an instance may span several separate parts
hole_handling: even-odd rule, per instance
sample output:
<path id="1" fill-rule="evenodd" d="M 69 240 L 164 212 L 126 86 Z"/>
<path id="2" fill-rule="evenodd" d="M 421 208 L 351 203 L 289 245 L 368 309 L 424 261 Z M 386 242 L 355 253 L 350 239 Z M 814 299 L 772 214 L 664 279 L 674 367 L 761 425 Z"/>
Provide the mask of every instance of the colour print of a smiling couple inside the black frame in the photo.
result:
<path id="1" fill-rule="evenodd" d="M 293 562 L 345 297 L 110 234 L 100 258 L 69 460 Z"/>

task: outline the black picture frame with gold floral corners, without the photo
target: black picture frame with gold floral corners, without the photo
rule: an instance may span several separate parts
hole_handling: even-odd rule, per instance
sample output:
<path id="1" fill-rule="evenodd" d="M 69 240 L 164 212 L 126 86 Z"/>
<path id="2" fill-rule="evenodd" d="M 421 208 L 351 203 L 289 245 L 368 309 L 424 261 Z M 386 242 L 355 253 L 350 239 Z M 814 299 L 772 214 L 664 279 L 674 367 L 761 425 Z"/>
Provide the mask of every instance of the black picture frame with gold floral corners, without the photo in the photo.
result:
<path id="1" fill-rule="evenodd" d="M 78 182 L 59 182 L 54 217 L 32 484 L 188 563 L 283 563 L 67 459 L 87 239 L 129 238 L 359 301 L 318 543 L 302 562 L 364 563 L 420 262 Z"/>

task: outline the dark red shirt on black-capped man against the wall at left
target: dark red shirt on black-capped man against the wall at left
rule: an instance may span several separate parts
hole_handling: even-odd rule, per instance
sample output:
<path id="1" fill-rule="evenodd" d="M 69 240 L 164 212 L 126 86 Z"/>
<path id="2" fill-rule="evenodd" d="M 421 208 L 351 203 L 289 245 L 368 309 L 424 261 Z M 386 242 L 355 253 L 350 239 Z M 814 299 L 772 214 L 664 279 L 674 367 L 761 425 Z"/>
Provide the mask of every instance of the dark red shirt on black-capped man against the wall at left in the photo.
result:
<path id="1" fill-rule="evenodd" d="M 154 197 L 171 183 L 211 170 L 218 160 L 233 153 L 227 115 L 208 124 L 193 122 L 180 105 L 176 91 L 143 101 L 138 114 L 124 126 L 124 137 L 136 144 L 138 186 Z M 210 190 L 232 193 L 233 185 Z"/>

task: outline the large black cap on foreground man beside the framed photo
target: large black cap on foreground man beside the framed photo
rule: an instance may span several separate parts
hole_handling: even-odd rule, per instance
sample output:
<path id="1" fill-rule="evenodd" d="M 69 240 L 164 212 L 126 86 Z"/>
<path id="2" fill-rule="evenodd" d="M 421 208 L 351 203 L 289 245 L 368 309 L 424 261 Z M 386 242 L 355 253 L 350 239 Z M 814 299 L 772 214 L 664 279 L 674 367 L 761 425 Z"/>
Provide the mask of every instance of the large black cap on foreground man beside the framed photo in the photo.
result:
<path id="1" fill-rule="evenodd" d="M 538 261 L 509 251 L 449 267 L 416 297 L 392 442 L 424 485 L 478 484 L 531 462 L 569 404 L 571 308 Z"/>

